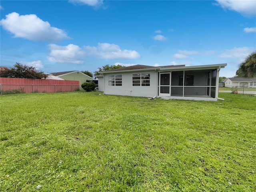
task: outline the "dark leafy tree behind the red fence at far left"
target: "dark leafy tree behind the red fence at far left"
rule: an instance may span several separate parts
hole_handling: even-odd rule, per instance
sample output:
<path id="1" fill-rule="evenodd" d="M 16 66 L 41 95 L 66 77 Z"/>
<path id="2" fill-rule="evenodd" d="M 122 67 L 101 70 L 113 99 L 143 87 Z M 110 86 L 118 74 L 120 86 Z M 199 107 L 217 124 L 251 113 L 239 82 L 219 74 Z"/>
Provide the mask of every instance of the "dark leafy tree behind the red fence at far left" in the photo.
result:
<path id="1" fill-rule="evenodd" d="M 16 63 L 13 68 L 10 68 L 0 74 L 1 77 L 11 78 L 28 78 L 28 79 L 42 79 L 47 75 L 44 72 L 38 71 L 35 67 L 30 67 Z"/>

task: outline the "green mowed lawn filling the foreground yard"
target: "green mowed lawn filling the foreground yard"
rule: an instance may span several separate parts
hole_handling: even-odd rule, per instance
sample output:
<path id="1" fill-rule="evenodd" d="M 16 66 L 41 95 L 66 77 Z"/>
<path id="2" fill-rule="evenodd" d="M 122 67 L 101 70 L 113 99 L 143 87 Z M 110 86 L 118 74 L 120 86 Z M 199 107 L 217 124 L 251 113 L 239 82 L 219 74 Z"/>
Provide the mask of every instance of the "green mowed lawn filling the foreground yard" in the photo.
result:
<path id="1" fill-rule="evenodd" d="M 0 97 L 0 191 L 256 191 L 256 97 Z"/>

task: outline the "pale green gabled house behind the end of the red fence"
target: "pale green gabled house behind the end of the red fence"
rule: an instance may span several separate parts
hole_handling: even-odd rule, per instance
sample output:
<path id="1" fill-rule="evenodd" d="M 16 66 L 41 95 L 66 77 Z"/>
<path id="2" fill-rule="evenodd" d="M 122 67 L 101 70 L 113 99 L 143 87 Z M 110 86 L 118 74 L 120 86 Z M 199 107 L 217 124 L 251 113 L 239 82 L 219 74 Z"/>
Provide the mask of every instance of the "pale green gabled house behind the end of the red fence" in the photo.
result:
<path id="1" fill-rule="evenodd" d="M 80 71 L 64 71 L 64 72 L 57 72 L 51 73 L 56 77 L 60 77 L 64 80 L 76 80 L 79 81 L 80 89 L 82 89 L 82 83 L 86 82 L 87 79 L 93 79 L 92 77 L 80 72 Z"/>

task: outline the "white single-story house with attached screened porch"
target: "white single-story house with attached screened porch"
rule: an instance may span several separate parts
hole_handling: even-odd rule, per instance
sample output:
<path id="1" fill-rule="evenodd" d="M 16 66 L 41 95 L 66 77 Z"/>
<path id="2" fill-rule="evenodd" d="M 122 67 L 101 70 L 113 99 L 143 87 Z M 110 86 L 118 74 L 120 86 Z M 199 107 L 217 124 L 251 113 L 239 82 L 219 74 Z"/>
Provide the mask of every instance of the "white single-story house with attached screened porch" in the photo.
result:
<path id="1" fill-rule="evenodd" d="M 104 94 L 217 101 L 219 71 L 226 65 L 134 65 L 103 71 L 100 78 Z"/>

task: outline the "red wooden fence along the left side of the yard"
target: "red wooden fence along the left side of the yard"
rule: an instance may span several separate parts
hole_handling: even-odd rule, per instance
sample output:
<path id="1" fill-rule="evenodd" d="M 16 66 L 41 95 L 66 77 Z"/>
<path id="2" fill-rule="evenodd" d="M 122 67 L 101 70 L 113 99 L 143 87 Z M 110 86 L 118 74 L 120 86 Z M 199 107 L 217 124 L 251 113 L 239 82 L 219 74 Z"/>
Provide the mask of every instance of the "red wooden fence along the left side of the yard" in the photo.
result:
<path id="1" fill-rule="evenodd" d="M 26 93 L 76 91 L 79 90 L 79 81 L 0 77 L 1 94 L 7 90 L 20 90 Z"/>

